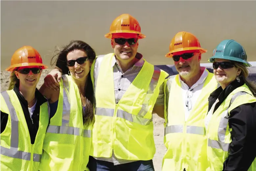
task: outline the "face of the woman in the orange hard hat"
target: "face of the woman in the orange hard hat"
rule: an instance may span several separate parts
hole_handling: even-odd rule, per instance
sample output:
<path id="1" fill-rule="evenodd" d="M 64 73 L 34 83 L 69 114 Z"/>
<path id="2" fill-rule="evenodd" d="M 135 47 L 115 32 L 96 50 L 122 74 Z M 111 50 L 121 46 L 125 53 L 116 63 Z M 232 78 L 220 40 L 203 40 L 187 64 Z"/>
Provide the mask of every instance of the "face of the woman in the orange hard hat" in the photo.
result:
<path id="1" fill-rule="evenodd" d="M 29 69 L 34 70 L 34 73 Z M 35 71 L 38 71 L 35 74 Z M 29 72 L 29 73 L 27 73 Z M 35 88 L 36 84 L 38 83 L 42 69 L 39 66 L 26 66 L 26 67 L 19 67 L 17 71 L 14 71 L 16 77 L 19 79 L 19 86 L 24 87 L 27 89 Z"/>

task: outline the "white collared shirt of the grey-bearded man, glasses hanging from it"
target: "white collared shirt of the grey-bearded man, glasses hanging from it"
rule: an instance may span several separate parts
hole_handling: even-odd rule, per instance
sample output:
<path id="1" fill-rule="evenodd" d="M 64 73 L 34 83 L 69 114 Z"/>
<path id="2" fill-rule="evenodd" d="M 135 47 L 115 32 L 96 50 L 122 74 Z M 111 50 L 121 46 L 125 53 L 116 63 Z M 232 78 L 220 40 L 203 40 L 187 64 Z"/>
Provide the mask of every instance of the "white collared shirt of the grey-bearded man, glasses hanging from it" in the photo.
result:
<path id="1" fill-rule="evenodd" d="M 187 121 L 190 115 L 190 112 L 193 108 L 193 105 L 195 105 L 195 103 L 197 102 L 198 97 L 203 88 L 205 79 L 208 76 L 208 72 L 206 71 L 206 68 L 205 67 L 203 68 L 204 68 L 203 74 L 191 88 L 189 88 L 188 85 L 181 80 L 179 75 L 179 81 L 181 83 L 181 89 L 182 89 L 183 106 L 185 111 L 185 121 Z"/>

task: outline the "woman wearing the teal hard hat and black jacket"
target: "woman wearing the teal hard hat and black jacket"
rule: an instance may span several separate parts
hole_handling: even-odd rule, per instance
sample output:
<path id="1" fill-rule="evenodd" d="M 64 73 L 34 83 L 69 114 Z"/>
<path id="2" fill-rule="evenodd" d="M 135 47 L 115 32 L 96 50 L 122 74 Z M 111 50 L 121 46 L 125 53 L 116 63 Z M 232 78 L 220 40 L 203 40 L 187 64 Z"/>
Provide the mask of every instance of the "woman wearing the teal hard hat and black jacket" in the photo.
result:
<path id="1" fill-rule="evenodd" d="M 207 171 L 256 170 L 256 85 L 247 79 L 246 60 L 235 40 L 223 40 L 208 59 L 221 86 L 211 93 L 205 118 Z"/>

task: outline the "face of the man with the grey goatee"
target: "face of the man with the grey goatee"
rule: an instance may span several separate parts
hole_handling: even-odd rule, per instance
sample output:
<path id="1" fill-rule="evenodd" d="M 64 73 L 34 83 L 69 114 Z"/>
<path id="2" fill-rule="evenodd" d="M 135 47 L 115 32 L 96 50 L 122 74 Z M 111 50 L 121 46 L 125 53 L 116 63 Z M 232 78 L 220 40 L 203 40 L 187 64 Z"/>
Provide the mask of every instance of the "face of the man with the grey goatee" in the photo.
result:
<path id="1" fill-rule="evenodd" d="M 184 53 L 193 53 L 194 55 L 192 55 L 192 57 L 189 59 L 183 59 L 180 57 L 179 61 L 174 61 L 176 70 L 181 77 L 191 77 L 193 75 L 197 75 L 200 71 L 201 53 L 195 51 L 181 51 L 175 52 L 173 55 L 182 55 Z"/>

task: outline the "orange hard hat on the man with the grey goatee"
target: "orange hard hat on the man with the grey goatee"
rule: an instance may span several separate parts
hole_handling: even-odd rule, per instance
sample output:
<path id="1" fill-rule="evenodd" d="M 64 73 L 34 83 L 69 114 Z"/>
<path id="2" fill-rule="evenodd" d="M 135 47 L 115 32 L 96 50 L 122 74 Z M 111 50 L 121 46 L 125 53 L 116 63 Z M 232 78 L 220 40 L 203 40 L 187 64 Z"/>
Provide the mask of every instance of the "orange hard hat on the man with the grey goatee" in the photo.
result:
<path id="1" fill-rule="evenodd" d="M 201 48 L 198 38 L 190 32 L 178 32 L 171 41 L 170 52 L 165 57 L 172 57 L 172 53 L 180 51 L 199 50 L 201 53 L 207 52 Z"/>

